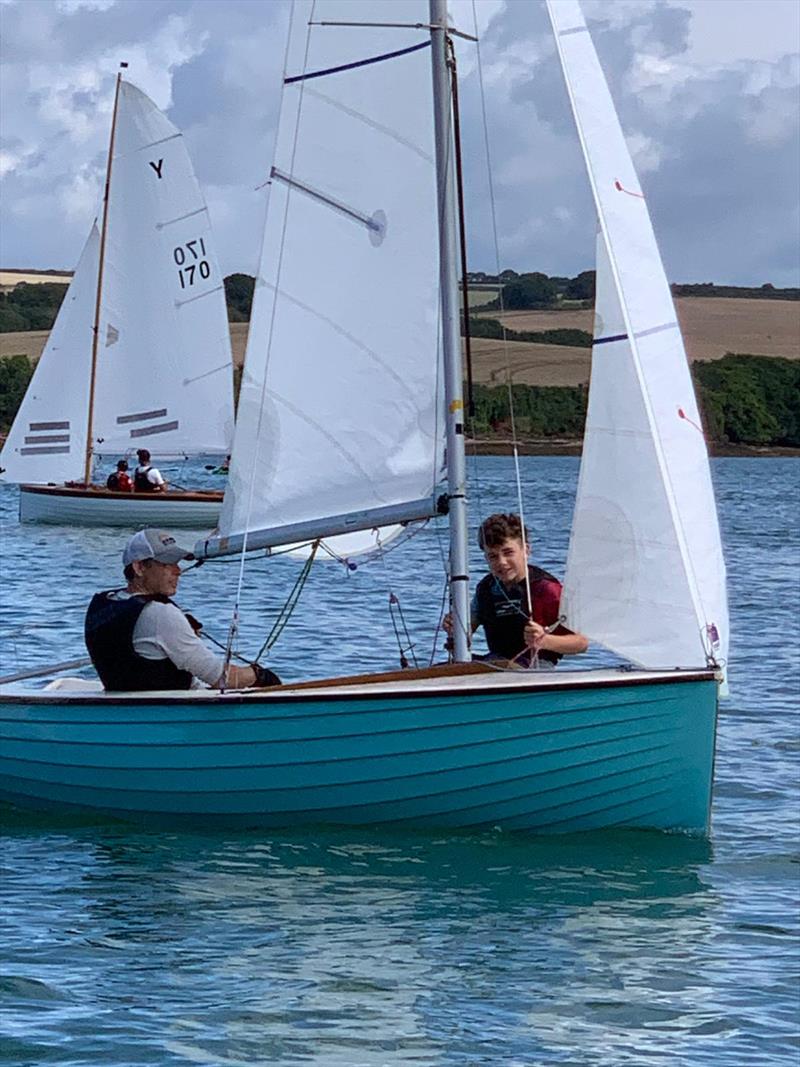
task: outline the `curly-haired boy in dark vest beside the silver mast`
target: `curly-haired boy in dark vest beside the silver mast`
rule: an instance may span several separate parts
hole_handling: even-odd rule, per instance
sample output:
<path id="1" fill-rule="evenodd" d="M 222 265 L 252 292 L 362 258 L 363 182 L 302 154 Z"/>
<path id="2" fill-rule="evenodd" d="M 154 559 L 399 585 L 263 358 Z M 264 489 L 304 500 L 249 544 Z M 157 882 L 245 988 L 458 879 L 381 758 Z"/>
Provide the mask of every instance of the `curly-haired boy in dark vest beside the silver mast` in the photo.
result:
<path id="1" fill-rule="evenodd" d="M 483 626 L 489 646 L 489 656 L 479 658 L 549 670 L 562 656 L 587 650 L 589 641 L 582 634 L 561 625 L 561 583 L 528 563 L 528 531 L 518 515 L 490 515 L 478 531 L 478 544 L 490 570 L 478 583 L 470 606 L 473 633 Z M 445 616 L 443 626 L 452 633 L 451 616 Z"/>

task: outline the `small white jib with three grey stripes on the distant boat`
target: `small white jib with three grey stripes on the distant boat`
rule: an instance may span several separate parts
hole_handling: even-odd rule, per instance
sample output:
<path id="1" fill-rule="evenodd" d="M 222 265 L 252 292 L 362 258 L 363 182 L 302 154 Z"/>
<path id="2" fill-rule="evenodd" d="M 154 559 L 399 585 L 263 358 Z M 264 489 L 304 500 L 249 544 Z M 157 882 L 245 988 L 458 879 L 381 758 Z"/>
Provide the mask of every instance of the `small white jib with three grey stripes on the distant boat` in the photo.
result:
<path id="1" fill-rule="evenodd" d="M 95 224 L 0 453 L 3 481 L 83 477 L 99 245 Z"/>

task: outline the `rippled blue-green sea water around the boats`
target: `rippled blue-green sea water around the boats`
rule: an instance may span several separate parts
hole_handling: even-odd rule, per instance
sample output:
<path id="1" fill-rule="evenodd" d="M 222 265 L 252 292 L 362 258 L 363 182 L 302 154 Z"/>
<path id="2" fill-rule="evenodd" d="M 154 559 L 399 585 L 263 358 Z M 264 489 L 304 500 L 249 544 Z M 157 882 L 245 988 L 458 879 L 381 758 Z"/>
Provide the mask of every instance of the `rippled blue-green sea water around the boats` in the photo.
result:
<path id="1" fill-rule="evenodd" d="M 560 573 L 577 460 L 522 463 L 535 561 Z M 515 508 L 508 460 L 475 474 L 476 517 Z M 710 841 L 188 834 L 3 808 L 0 1064 L 796 1067 L 800 463 L 723 459 L 714 476 L 734 640 Z M 212 483 L 202 464 L 173 477 Z M 83 654 L 125 540 L 20 527 L 16 506 L 0 491 L 3 672 Z M 355 572 L 315 564 L 271 666 L 397 666 L 390 592 L 427 662 L 445 551 L 429 528 Z M 300 567 L 245 572 L 243 652 Z M 181 583 L 220 639 L 237 574 Z"/>

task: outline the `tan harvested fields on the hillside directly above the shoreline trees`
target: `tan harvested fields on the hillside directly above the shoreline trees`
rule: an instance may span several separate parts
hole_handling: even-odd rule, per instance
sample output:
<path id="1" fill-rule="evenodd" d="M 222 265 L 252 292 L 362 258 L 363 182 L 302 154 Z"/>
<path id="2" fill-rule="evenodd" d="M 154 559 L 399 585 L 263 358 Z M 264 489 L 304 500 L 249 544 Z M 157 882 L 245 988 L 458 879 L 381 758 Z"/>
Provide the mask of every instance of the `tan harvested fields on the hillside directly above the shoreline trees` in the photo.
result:
<path id="1" fill-rule="evenodd" d="M 692 360 L 719 360 L 725 352 L 781 355 L 800 359 L 800 302 L 739 300 L 738 298 L 685 297 L 676 301 L 677 314 Z M 497 318 L 497 313 L 487 313 Z M 578 329 L 591 332 L 591 310 L 507 312 L 512 330 Z M 247 341 L 246 322 L 230 324 L 234 363 L 241 366 Z M 0 334 L 0 357 L 18 353 L 37 360 L 47 340 L 44 330 Z M 564 345 L 533 345 L 477 337 L 473 340 L 475 380 L 484 384 L 505 381 L 506 361 L 513 380 L 527 385 L 580 385 L 589 380 L 590 349 Z"/>

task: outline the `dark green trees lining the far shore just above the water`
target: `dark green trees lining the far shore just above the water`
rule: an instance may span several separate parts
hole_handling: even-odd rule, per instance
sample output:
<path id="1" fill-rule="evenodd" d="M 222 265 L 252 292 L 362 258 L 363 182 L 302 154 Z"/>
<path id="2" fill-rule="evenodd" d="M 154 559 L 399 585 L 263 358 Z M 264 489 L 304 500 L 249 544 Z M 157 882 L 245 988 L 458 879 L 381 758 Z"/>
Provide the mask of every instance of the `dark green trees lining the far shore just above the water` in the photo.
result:
<path id="1" fill-rule="evenodd" d="M 0 360 L 0 432 L 11 428 L 32 373 L 26 355 Z M 711 443 L 800 448 L 800 361 L 729 353 L 722 360 L 694 363 L 692 375 Z M 512 385 L 511 393 L 518 436 L 582 437 L 586 386 Z M 508 388 L 475 385 L 473 399 L 469 433 L 508 439 Z"/>

